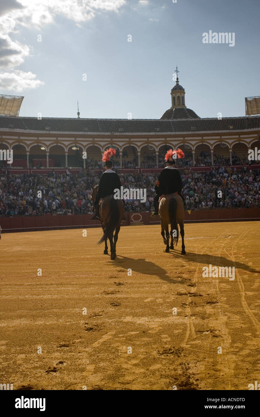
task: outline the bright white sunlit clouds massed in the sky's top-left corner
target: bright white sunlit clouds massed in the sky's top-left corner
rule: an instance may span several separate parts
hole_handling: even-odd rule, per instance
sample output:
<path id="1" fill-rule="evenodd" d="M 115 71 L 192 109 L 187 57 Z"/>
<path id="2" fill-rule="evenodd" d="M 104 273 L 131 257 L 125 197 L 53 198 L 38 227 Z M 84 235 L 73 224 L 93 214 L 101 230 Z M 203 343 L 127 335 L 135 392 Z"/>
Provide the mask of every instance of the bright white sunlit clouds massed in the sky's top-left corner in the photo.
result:
<path id="1" fill-rule="evenodd" d="M 141 0 L 139 3 L 148 3 Z M 0 66 L 13 68 L 24 62 L 30 55 L 30 46 L 11 40 L 11 35 L 19 34 L 20 27 L 40 29 L 55 23 L 56 16 L 80 23 L 94 18 L 97 10 L 117 12 L 126 0 L 1 0 L 0 3 Z M 14 70 L 0 74 L 1 85 L 5 89 L 22 91 L 43 84 L 36 75 Z M 20 83 L 20 84 L 19 84 Z"/>

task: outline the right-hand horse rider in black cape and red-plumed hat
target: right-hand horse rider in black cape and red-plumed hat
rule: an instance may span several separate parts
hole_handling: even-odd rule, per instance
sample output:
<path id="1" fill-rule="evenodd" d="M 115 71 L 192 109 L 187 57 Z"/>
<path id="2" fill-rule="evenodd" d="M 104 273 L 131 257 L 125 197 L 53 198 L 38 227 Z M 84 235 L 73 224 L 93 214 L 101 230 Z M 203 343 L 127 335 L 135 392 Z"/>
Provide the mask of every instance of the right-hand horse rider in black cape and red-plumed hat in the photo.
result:
<path id="1" fill-rule="evenodd" d="M 152 217 L 158 216 L 159 198 L 162 195 L 178 193 L 182 197 L 183 203 L 185 204 L 182 196 L 182 178 L 179 170 L 174 167 L 175 159 L 184 158 L 184 152 L 181 149 L 177 151 L 169 149 L 165 154 L 166 167 L 161 171 L 158 181 L 155 186 L 156 196 L 154 197 L 154 211 Z"/>

